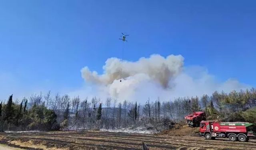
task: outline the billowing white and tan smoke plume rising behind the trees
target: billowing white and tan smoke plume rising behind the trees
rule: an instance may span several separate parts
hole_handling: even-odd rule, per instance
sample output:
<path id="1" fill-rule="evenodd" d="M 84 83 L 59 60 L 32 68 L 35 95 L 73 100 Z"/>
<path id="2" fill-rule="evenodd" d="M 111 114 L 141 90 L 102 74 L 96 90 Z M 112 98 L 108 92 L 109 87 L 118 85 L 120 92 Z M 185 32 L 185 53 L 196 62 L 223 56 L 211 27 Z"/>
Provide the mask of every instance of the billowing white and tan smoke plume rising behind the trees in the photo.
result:
<path id="1" fill-rule="evenodd" d="M 231 79 L 219 83 L 202 67 L 184 68 L 181 55 L 164 58 L 154 54 L 136 62 L 109 58 L 103 70 L 104 73 L 99 75 L 84 67 L 82 78 L 93 85 L 94 93 L 121 101 L 144 102 L 148 97 L 170 100 L 178 96 L 201 96 L 215 90 L 229 92 L 249 87 Z"/>

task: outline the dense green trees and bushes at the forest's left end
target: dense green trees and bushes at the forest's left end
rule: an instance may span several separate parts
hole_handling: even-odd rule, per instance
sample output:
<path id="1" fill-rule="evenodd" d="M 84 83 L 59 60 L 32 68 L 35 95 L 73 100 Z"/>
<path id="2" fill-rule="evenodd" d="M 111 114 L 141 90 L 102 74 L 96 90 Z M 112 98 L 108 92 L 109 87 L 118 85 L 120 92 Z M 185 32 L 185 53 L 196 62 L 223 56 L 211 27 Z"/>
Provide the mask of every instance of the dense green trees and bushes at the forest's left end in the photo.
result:
<path id="1" fill-rule="evenodd" d="M 4 130 L 58 130 L 57 116 L 44 104 L 28 107 L 24 98 L 20 104 L 12 101 L 12 95 L 6 104 L 0 103 L 0 132 Z"/>

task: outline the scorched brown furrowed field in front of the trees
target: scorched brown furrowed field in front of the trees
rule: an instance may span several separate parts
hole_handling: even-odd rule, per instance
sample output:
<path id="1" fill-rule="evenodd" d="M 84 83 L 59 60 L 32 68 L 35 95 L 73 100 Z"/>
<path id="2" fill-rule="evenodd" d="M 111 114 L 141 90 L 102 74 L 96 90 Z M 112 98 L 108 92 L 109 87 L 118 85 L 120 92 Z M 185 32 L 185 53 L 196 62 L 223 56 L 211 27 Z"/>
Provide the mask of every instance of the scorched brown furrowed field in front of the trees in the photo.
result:
<path id="1" fill-rule="evenodd" d="M 230 142 L 226 139 L 204 140 L 194 136 L 126 134 L 113 132 L 36 132 L 0 133 L 0 142 L 30 150 L 141 150 L 142 140 L 150 150 L 252 150 L 256 140 Z"/>

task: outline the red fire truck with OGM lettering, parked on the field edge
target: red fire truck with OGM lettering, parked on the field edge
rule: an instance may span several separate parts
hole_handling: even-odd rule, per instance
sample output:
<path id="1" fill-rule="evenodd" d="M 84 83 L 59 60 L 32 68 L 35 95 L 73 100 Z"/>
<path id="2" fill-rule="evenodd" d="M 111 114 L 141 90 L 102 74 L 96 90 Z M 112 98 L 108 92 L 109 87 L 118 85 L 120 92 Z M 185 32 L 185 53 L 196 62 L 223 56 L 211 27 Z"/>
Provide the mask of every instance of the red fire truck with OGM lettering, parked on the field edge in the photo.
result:
<path id="1" fill-rule="evenodd" d="M 248 122 L 201 121 L 200 135 L 206 140 L 229 138 L 230 141 L 247 142 L 256 133 L 255 125 Z"/>

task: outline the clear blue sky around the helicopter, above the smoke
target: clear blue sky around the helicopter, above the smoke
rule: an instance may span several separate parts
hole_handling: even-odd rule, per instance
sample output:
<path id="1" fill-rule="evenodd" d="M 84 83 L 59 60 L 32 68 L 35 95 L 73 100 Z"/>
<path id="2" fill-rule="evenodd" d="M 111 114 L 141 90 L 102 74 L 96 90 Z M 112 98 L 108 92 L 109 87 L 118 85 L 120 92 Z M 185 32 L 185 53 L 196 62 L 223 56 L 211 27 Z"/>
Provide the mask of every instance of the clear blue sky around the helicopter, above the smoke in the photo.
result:
<path id="1" fill-rule="evenodd" d="M 0 1 L 0 98 L 84 85 L 80 69 L 102 73 L 107 58 L 181 54 L 185 66 L 220 81 L 256 86 L 253 0 Z M 15 94 L 15 93 L 13 93 Z M 6 97 L 8 97 L 6 95 Z"/>

